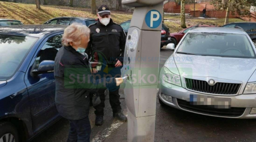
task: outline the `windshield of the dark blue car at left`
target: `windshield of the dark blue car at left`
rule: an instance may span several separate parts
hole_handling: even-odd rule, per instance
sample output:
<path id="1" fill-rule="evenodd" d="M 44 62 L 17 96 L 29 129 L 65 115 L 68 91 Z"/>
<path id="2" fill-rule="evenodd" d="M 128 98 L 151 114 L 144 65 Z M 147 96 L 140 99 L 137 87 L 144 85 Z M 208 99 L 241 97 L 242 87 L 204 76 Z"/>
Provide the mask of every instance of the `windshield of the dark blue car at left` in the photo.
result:
<path id="1" fill-rule="evenodd" d="M 37 38 L 0 34 L 0 81 L 17 71 Z"/>

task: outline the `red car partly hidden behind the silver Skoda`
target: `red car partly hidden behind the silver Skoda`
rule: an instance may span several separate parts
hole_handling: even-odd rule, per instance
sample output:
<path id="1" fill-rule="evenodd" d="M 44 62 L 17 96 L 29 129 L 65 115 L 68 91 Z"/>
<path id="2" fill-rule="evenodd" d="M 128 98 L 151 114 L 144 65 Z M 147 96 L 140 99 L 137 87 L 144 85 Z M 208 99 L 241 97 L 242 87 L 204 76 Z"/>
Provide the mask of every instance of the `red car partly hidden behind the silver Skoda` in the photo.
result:
<path id="1" fill-rule="evenodd" d="M 199 27 L 216 27 L 215 25 L 198 25 Z M 182 31 L 179 31 L 178 33 L 171 33 L 170 36 L 172 37 L 172 43 L 174 43 L 174 46 L 180 42 L 180 40 L 183 38 L 183 36 L 191 30 L 191 28 L 194 26 L 187 27 L 186 29 L 183 29 Z"/>

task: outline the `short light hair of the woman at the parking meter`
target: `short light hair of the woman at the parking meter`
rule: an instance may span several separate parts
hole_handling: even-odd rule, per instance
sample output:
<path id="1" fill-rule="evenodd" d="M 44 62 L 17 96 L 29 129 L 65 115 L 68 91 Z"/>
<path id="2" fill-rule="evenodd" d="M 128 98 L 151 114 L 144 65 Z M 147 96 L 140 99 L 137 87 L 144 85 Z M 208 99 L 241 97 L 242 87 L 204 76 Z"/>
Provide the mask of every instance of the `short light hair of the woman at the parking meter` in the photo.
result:
<path id="1" fill-rule="evenodd" d="M 82 35 L 86 36 L 88 41 L 90 41 L 90 29 L 81 23 L 73 23 L 64 30 L 62 44 L 69 46 L 69 42 L 71 41 L 74 44 L 80 44 Z"/>

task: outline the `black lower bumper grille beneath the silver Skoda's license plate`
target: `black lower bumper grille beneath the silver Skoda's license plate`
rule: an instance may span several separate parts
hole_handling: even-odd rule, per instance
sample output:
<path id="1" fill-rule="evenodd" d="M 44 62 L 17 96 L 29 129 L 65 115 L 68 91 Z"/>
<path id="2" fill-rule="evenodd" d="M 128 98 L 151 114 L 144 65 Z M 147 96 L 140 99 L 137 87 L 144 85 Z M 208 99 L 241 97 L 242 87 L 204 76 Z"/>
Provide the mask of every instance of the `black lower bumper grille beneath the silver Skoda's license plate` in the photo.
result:
<path id="1" fill-rule="evenodd" d="M 239 117 L 243 115 L 246 108 L 231 107 L 230 109 L 218 109 L 208 105 L 191 105 L 190 102 L 177 99 L 180 108 L 207 115 L 222 116 L 222 117 Z"/>

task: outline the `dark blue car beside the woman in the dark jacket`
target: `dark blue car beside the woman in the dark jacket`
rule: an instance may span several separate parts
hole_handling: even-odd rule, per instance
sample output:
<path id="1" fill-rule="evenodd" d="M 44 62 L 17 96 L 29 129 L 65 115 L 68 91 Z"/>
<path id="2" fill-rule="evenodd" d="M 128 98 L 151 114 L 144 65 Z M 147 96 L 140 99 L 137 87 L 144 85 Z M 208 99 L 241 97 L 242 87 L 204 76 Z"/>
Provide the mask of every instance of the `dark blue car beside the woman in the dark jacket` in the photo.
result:
<path id="1" fill-rule="evenodd" d="M 29 141 L 61 118 L 53 66 L 66 27 L 0 27 L 0 142 Z"/>

